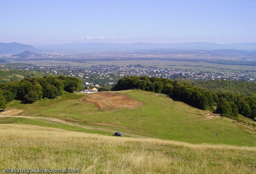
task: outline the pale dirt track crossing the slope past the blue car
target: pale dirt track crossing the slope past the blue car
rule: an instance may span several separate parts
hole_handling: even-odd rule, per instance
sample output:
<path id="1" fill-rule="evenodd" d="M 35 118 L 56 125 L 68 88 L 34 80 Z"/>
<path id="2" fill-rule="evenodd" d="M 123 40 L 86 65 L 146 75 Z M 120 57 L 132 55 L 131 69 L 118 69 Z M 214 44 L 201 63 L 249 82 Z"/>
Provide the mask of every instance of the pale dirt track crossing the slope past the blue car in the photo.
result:
<path id="1" fill-rule="evenodd" d="M 78 125 L 78 124 L 76 124 L 76 123 L 67 122 L 67 121 L 62 120 L 62 119 L 55 119 L 55 118 L 48 118 L 48 117 L 29 117 L 29 116 L 2 115 L 2 114 L 0 115 L 0 117 L 16 117 L 16 118 L 28 118 L 28 119 L 46 119 L 46 120 L 48 120 L 48 121 L 63 123 L 63 124 L 66 124 L 66 125 L 71 125 L 71 126 L 76 126 L 76 127 L 81 127 L 81 128 L 84 128 L 84 129 L 104 130 L 104 131 L 107 131 L 107 132 L 114 133 L 113 130 L 109 130 L 109 129 L 105 129 L 105 128 Z M 51 122 L 48 122 L 48 123 L 51 123 Z M 51 123 L 51 124 L 54 124 L 54 123 Z M 126 132 L 123 132 L 123 134 L 124 134 L 124 135 L 129 135 L 129 136 L 132 136 L 132 137 L 138 137 L 138 138 L 150 138 L 150 137 L 145 137 L 145 136 L 141 136 L 141 135 L 130 134 L 130 133 L 126 133 Z"/>

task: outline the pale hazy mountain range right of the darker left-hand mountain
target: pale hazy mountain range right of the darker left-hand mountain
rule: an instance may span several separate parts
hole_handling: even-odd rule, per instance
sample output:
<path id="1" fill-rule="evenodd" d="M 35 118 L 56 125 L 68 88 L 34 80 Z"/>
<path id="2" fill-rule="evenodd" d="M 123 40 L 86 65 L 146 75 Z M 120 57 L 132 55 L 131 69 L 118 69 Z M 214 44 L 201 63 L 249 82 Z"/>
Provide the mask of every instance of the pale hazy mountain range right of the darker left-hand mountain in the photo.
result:
<path id="1" fill-rule="evenodd" d="M 240 49 L 256 51 L 256 43 L 214 44 L 208 42 L 195 42 L 186 44 L 151 44 L 151 43 L 68 43 L 37 45 L 42 51 L 120 51 L 141 49 L 172 49 L 172 50 L 214 50 L 214 49 Z"/>

